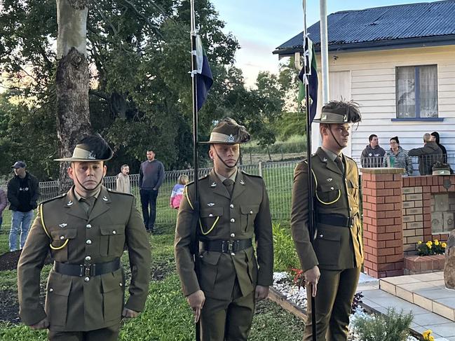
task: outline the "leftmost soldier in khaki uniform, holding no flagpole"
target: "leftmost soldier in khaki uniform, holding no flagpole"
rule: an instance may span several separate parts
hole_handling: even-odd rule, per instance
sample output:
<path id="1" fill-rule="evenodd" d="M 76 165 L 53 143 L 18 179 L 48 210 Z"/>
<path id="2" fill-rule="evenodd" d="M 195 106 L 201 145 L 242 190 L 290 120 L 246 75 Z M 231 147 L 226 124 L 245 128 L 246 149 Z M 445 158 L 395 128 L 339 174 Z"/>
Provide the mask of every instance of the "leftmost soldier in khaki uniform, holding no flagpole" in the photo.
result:
<path id="1" fill-rule="evenodd" d="M 74 186 L 39 205 L 18 264 L 20 317 L 33 329 L 48 328 L 53 341 L 118 340 L 121 317 L 144 309 L 151 253 L 133 195 L 107 190 L 104 161 L 111 148 L 99 136 L 74 148 L 69 176 Z M 124 305 L 125 279 L 120 263 L 128 246 L 132 279 Z M 54 260 L 39 302 L 44 259 Z"/>

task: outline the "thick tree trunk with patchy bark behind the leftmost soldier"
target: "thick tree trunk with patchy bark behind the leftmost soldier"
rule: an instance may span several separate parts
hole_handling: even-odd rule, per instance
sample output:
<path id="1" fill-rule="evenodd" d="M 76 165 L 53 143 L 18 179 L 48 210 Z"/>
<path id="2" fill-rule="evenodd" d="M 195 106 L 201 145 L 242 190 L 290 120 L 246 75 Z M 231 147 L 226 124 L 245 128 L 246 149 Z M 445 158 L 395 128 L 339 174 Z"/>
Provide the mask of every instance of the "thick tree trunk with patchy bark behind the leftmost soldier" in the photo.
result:
<path id="1" fill-rule="evenodd" d="M 90 75 L 86 58 L 87 0 L 57 0 L 57 137 L 60 156 L 72 155 L 74 146 L 90 134 L 88 90 Z M 60 193 L 72 185 L 67 162 L 60 164 Z"/>

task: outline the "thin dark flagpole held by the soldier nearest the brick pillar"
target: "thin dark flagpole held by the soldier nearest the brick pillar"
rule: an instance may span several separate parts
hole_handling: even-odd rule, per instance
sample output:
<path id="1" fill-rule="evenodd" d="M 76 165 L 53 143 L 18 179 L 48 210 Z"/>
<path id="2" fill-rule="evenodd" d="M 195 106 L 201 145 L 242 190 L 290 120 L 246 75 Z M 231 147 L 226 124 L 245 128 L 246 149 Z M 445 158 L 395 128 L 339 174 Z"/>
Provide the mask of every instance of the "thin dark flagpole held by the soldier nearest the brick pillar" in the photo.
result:
<path id="1" fill-rule="evenodd" d="M 311 245 L 314 242 L 315 228 L 314 228 L 314 205 L 313 205 L 313 179 L 311 172 L 311 113 L 310 113 L 310 86 L 308 77 L 310 74 L 310 57 L 309 57 L 309 43 L 308 32 L 306 30 L 306 0 L 302 0 L 304 8 L 304 85 L 305 85 L 305 111 L 306 111 L 306 162 L 308 163 L 308 235 Z M 313 284 L 306 289 L 310 292 L 311 297 L 311 335 L 312 340 L 316 341 L 316 303 L 313 297 Z"/>

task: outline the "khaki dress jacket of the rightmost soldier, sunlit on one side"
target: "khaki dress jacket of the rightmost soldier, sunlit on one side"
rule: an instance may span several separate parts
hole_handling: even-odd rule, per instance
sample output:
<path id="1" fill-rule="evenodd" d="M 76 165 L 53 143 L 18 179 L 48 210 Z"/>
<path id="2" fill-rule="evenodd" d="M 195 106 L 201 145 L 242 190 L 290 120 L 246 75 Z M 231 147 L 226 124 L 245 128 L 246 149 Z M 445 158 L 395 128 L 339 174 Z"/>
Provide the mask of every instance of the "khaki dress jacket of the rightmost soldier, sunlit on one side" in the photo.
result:
<path id="1" fill-rule="evenodd" d="M 301 267 L 315 265 L 326 270 L 359 267 L 363 262 L 358 167 L 343 155 L 346 175 L 328 158 L 322 148 L 311 156 L 313 168 L 313 202 L 315 240 L 308 233 L 308 164 L 299 162 L 294 170 L 292 188 L 291 230 Z M 325 216 L 352 218 L 350 226 L 325 223 Z"/>

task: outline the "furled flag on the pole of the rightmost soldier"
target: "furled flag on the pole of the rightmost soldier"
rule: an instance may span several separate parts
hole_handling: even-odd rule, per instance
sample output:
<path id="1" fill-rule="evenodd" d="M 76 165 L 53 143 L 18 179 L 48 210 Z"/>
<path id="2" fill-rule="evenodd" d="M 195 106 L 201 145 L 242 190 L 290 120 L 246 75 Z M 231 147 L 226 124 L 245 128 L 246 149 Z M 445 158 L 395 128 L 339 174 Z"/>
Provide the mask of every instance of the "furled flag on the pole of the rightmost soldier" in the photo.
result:
<path id="1" fill-rule="evenodd" d="M 316 116 L 316 109 L 318 107 L 318 68 L 316 66 L 316 54 L 313 46 L 313 41 L 306 37 L 304 39 L 304 67 L 299 72 L 299 104 L 305 99 L 305 85 L 308 84 L 308 94 L 310 95 L 310 122 Z M 305 74 L 305 66 L 309 65 L 309 73 Z"/>

